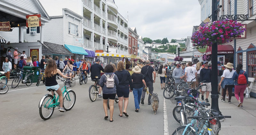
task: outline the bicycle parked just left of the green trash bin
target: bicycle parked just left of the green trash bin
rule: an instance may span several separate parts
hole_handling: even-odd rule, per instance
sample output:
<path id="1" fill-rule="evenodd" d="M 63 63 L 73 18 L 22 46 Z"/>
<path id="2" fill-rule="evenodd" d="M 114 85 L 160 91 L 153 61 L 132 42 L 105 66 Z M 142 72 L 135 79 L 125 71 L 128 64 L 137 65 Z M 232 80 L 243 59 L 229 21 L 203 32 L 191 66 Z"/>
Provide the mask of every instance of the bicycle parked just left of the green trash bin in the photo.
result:
<path id="1" fill-rule="evenodd" d="M 12 80 L 12 88 L 16 88 L 20 81 L 21 83 L 25 83 L 27 86 L 32 85 L 34 81 L 34 73 L 29 73 L 30 70 L 21 70 L 18 69 L 17 75 Z M 25 74 L 24 80 L 22 80 L 22 74 Z"/>

